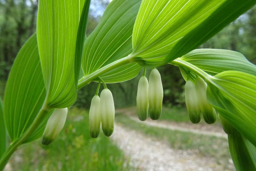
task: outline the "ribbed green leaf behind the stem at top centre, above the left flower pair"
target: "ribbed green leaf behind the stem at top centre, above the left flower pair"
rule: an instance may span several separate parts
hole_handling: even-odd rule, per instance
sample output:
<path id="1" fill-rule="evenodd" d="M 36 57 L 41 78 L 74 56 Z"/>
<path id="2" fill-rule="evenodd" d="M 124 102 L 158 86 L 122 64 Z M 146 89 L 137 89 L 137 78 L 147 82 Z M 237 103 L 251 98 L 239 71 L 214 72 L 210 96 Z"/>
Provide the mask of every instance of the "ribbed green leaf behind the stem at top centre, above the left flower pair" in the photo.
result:
<path id="1" fill-rule="evenodd" d="M 132 52 L 132 29 L 140 3 L 140 0 L 113 0 L 108 5 L 98 26 L 85 41 L 82 57 L 84 76 Z M 132 79 L 139 71 L 138 64 L 127 63 L 100 76 L 108 83 L 122 82 Z"/>

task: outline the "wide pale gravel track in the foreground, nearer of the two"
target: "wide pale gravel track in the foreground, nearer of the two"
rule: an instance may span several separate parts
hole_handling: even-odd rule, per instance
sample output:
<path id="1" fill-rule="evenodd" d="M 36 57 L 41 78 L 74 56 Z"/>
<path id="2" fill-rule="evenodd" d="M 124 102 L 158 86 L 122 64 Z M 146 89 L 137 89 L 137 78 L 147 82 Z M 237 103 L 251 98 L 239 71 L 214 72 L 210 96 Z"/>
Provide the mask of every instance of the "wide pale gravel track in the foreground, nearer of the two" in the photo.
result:
<path id="1" fill-rule="evenodd" d="M 190 150 L 173 150 L 167 143 L 115 123 L 111 138 L 131 157 L 138 170 L 147 171 L 220 171 L 215 159 L 202 157 Z"/>

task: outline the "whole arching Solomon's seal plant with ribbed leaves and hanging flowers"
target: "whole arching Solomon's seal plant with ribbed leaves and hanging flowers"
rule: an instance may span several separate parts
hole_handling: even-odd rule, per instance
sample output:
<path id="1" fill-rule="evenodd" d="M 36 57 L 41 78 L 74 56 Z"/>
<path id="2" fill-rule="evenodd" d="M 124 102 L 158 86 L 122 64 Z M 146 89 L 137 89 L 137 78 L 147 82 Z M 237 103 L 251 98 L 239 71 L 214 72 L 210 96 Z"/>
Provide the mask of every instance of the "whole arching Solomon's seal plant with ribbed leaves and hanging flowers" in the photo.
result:
<path id="1" fill-rule="evenodd" d="M 199 120 L 199 107 L 207 123 L 214 122 L 216 110 L 228 133 L 236 169 L 256 170 L 256 66 L 239 52 L 196 49 L 255 4 L 255 0 L 113 0 L 86 37 L 90 0 L 39 0 L 36 33 L 17 54 L 0 103 L 0 170 L 21 144 L 42 137 L 44 130 L 43 143 L 52 142 L 77 91 L 90 82 L 105 87 L 100 103 L 97 95 L 92 100 L 93 137 L 98 136 L 100 121 L 106 136 L 114 129 L 114 102 L 106 84 L 134 78 L 141 66 L 154 68 L 148 102 L 151 118 L 158 119 L 163 88 L 156 67 L 167 63 L 178 66 L 187 81 L 187 107 L 189 113 L 196 112 L 193 122 Z M 139 89 L 138 96 L 143 92 Z M 199 107 L 192 104 L 192 93 L 198 96 Z M 147 103 L 141 100 L 138 114 L 144 120 Z M 100 114 L 93 110 L 97 105 Z M 65 110 L 58 115 L 61 125 L 54 114 L 59 110 Z M 8 148 L 6 132 L 12 141 Z"/>

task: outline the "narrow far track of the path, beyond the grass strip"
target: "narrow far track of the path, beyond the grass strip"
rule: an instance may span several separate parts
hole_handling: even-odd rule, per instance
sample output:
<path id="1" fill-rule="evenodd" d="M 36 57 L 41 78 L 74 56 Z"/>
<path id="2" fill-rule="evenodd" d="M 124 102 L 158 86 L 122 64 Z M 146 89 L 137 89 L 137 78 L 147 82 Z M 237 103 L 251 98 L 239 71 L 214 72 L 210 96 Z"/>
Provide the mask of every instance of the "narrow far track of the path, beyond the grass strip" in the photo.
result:
<path id="1" fill-rule="evenodd" d="M 148 118 L 145 121 L 140 121 L 136 114 L 136 107 L 130 107 L 125 109 L 119 109 L 116 113 L 123 113 L 128 116 L 130 119 L 143 123 L 149 126 L 166 128 L 170 130 L 179 130 L 183 132 L 193 132 L 195 134 L 207 135 L 207 136 L 217 136 L 228 138 L 227 134 L 223 131 L 222 128 L 215 125 L 209 124 L 189 124 L 189 123 L 177 123 L 173 121 L 164 121 L 164 120 L 151 120 Z"/>

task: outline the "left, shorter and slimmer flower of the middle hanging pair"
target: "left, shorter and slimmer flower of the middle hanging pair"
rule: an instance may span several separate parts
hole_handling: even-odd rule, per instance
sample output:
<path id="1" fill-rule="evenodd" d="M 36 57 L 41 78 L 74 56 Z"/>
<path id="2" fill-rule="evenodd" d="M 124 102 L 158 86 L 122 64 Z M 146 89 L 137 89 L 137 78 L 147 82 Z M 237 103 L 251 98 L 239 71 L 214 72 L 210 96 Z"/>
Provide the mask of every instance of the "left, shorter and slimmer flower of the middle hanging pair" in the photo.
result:
<path id="1" fill-rule="evenodd" d="M 148 79 L 145 76 L 140 78 L 136 102 L 138 117 L 144 121 L 148 117 Z"/>

